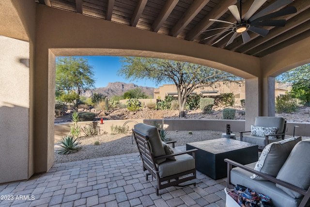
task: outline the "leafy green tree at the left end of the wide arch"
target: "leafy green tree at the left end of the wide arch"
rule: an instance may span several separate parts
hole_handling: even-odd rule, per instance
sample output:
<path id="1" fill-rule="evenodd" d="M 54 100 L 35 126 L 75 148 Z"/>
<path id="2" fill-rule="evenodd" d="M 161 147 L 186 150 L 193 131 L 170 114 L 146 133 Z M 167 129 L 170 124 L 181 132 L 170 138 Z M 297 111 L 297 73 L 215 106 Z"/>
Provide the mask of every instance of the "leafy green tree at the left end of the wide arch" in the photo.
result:
<path id="1" fill-rule="evenodd" d="M 56 96 L 63 92 L 70 94 L 77 91 L 80 95 L 82 90 L 94 87 L 93 66 L 88 64 L 87 59 L 64 57 L 56 61 Z M 78 99 L 77 99 L 78 101 Z"/>

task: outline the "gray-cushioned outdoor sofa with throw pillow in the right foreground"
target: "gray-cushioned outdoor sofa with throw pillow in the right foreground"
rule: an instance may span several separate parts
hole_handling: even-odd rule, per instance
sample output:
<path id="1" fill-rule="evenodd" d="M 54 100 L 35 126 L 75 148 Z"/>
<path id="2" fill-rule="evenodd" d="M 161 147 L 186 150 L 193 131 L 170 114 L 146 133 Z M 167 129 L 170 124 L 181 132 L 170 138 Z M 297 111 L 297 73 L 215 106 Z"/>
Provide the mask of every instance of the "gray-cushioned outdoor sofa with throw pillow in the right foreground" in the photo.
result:
<path id="1" fill-rule="evenodd" d="M 268 144 L 258 162 L 241 165 L 225 159 L 227 187 L 243 185 L 271 198 L 276 207 L 305 207 L 310 198 L 310 139 Z M 237 166 L 233 168 L 233 166 Z"/>

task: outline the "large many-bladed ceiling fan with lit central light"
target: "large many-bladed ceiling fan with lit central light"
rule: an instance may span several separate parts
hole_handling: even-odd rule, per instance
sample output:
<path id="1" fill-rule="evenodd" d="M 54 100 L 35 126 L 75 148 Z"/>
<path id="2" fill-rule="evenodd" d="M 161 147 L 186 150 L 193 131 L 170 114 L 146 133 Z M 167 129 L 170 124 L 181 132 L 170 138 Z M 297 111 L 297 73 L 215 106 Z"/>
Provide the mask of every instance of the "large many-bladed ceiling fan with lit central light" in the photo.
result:
<path id="1" fill-rule="evenodd" d="M 226 36 L 232 33 L 233 35 L 228 41 L 228 43 L 226 44 L 226 46 L 228 46 L 229 44 L 233 42 L 234 38 L 237 36 L 238 33 L 241 33 L 243 43 L 246 44 L 250 40 L 248 31 L 255 32 L 264 37 L 268 34 L 269 30 L 266 30 L 260 27 L 262 26 L 284 27 L 286 23 L 285 19 L 272 20 L 272 18 L 279 17 L 279 16 L 285 16 L 285 15 L 289 15 L 289 14 L 293 14 L 297 12 L 294 6 L 289 6 L 279 11 L 271 13 L 272 11 L 279 9 L 282 6 L 286 6 L 289 3 L 293 2 L 293 0 L 277 0 L 274 3 L 270 4 L 269 6 L 267 6 L 266 8 L 264 8 L 263 10 L 261 10 L 260 12 L 258 12 L 257 14 L 253 15 L 263 5 L 263 3 L 267 1 L 267 0 L 254 0 L 252 5 L 248 9 L 248 12 L 242 18 L 242 13 L 241 13 L 242 2 L 241 0 L 237 0 L 237 1 L 240 3 L 240 11 L 238 10 L 238 7 L 236 5 L 231 5 L 228 7 L 229 11 L 232 13 L 237 23 L 223 21 L 219 19 L 209 19 L 210 21 L 227 23 L 227 24 L 231 24 L 232 26 L 202 31 L 202 32 L 208 32 L 212 30 L 227 29 L 223 32 L 217 33 L 217 34 L 220 34 L 220 33 L 228 32 L 227 34 L 222 36 L 220 39 L 218 39 L 216 42 L 214 42 L 212 45 L 217 44 L 219 41 L 221 41 Z M 202 40 L 211 38 L 213 36 L 216 36 L 217 34 L 214 34 Z"/>

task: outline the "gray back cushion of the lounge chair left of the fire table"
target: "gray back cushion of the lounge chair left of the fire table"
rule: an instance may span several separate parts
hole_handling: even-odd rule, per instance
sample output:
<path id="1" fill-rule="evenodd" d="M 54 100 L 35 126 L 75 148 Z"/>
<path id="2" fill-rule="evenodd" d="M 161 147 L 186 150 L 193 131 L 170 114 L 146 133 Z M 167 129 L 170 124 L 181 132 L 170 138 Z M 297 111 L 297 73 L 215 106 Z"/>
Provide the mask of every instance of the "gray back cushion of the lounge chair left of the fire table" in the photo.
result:
<path id="1" fill-rule="evenodd" d="M 156 127 L 146 125 L 143 123 L 139 123 L 139 124 L 136 124 L 134 126 L 134 128 L 137 131 L 148 136 L 150 145 L 152 147 L 151 150 L 152 150 L 152 153 L 154 155 L 154 158 L 166 155 L 164 146 L 163 146 L 161 139 L 160 139 L 160 136 L 159 136 L 158 129 Z M 156 163 L 159 164 L 161 162 L 164 162 L 165 160 L 166 159 L 159 159 L 156 161 Z"/>

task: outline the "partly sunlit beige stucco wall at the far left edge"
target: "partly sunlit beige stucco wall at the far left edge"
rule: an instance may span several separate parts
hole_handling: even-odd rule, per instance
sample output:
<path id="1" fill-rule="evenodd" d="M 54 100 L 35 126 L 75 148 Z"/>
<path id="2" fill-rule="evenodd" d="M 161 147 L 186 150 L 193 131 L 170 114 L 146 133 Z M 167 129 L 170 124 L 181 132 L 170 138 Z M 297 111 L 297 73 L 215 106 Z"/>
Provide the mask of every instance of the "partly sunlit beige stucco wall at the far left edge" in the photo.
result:
<path id="1" fill-rule="evenodd" d="M 0 36 L 0 183 L 29 178 L 28 42 Z"/>

